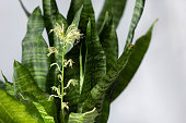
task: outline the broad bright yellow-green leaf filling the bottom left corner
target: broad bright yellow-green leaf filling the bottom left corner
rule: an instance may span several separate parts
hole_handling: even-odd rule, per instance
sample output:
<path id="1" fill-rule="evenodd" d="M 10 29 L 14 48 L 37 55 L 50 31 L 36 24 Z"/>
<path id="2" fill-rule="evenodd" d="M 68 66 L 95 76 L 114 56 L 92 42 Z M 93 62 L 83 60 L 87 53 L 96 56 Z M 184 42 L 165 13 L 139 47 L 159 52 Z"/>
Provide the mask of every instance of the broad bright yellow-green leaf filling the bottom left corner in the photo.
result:
<path id="1" fill-rule="evenodd" d="M 0 121 L 2 123 L 39 123 L 21 102 L 0 89 Z"/>

